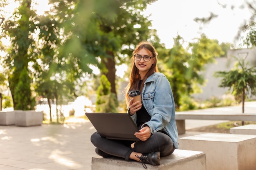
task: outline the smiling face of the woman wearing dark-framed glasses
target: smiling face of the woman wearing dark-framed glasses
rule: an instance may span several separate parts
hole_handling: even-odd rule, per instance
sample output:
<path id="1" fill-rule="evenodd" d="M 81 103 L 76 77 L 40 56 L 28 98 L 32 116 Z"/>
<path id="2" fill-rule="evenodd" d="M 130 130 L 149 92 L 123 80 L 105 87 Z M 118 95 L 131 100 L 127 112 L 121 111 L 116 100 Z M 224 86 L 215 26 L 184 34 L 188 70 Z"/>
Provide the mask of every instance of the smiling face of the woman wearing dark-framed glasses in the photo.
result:
<path id="1" fill-rule="evenodd" d="M 155 63 L 155 58 L 151 58 L 148 62 L 145 62 L 145 60 L 143 58 L 144 56 L 147 56 L 147 57 L 152 57 L 153 56 L 153 54 L 148 49 L 140 49 L 139 51 L 137 51 L 137 53 L 135 55 L 142 56 L 141 60 L 139 60 L 139 61 L 135 60 L 135 66 L 139 70 L 139 74 L 140 74 L 141 79 L 144 79 L 144 76 L 149 71 L 152 64 Z"/>

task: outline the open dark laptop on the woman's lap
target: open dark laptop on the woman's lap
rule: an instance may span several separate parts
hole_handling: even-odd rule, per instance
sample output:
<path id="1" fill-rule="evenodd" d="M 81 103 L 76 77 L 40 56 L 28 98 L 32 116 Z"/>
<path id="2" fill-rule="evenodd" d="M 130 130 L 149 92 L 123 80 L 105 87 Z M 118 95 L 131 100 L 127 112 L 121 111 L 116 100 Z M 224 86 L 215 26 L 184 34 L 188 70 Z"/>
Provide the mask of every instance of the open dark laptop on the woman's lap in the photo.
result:
<path id="1" fill-rule="evenodd" d="M 85 115 L 101 137 L 139 141 L 134 135 L 139 130 L 127 113 L 85 113 Z"/>

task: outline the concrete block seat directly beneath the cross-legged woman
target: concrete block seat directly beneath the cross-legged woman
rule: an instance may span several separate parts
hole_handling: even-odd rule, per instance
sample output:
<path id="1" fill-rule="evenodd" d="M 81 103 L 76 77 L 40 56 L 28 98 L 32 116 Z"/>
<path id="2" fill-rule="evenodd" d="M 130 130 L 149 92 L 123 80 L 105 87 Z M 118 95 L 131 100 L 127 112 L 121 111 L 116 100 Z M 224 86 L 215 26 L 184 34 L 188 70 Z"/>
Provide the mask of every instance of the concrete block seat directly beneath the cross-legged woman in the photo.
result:
<path id="1" fill-rule="evenodd" d="M 168 157 L 161 157 L 159 166 L 146 164 L 148 170 L 206 170 L 204 152 L 177 149 Z M 92 170 L 145 170 L 141 162 L 119 158 L 92 157 Z"/>

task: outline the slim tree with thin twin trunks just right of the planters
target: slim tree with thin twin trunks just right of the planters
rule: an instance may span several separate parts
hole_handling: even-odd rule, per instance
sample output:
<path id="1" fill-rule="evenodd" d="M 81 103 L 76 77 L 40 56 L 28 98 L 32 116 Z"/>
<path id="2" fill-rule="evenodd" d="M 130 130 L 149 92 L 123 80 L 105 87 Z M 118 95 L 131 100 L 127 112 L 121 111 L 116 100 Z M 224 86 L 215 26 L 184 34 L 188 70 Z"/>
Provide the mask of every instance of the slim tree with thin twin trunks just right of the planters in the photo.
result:
<path id="1" fill-rule="evenodd" d="M 59 108 L 62 104 L 73 100 L 76 96 L 74 88 L 79 71 L 72 67 L 73 58 L 64 60 L 60 53 L 61 33 L 58 19 L 52 20 L 50 14 L 40 16 L 40 23 L 37 25 L 39 32 L 35 39 L 35 56 L 38 56 L 33 63 L 34 87 L 38 95 L 47 98 L 49 105 L 50 121 L 52 122 L 52 104 L 56 101 L 56 114 L 58 123 L 64 119 L 63 113 Z M 68 69 L 67 69 L 68 68 Z"/>

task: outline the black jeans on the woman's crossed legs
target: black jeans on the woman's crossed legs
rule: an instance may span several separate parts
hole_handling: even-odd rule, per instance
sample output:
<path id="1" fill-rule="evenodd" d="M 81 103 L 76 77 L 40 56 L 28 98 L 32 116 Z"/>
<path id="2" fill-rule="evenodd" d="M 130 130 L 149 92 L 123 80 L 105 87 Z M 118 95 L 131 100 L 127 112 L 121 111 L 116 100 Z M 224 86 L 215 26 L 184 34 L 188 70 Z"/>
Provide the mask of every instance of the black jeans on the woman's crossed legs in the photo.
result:
<path id="1" fill-rule="evenodd" d="M 139 152 L 142 154 L 159 151 L 161 157 L 171 155 L 175 150 L 171 137 L 163 132 L 155 132 L 146 141 L 125 141 L 113 140 L 101 137 L 98 132 L 94 132 L 91 136 L 92 144 L 99 150 L 113 155 L 115 157 L 122 157 L 129 161 L 131 152 Z M 131 144 L 134 143 L 134 148 Z"/>

